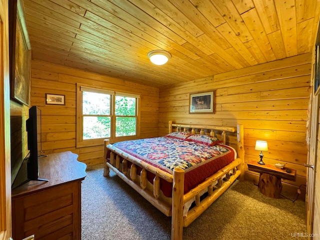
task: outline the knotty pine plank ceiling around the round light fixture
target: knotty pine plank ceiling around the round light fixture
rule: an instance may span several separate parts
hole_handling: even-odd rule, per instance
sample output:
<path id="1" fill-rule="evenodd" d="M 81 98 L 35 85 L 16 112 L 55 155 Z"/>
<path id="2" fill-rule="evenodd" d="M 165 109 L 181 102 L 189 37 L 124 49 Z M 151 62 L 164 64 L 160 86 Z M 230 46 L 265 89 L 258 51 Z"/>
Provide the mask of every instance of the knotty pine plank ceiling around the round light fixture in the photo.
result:
<path id="1" fill-rule="evenodd" d="M 311 52 L 320 0 L 23 0 L 32 58 L 163 87 Z M 154 65 L 147 53 L 171 53 Z"/>

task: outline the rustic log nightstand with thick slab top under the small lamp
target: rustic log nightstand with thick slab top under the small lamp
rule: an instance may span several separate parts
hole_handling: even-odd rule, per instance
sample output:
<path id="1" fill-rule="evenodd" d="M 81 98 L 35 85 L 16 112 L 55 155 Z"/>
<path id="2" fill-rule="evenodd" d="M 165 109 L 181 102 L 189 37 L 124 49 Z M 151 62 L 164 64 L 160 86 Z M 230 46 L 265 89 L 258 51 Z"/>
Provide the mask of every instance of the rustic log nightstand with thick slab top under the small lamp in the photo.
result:
<path id="1" fill-rule="evenodd" d="M 272 164 L 261 165 L 256 161 L 250 161 L 247 163 L 250 171 L 260 173 L 258 187 L 262 194 L 272 197 L 279 198 L 282 184 L 281 178 L 290 181 L 295 181 L 296 169 L 283 167 L 282 169 L 276 168 Z M 290 169 L 291 172 L 286 172 L 286 169 Z"/>

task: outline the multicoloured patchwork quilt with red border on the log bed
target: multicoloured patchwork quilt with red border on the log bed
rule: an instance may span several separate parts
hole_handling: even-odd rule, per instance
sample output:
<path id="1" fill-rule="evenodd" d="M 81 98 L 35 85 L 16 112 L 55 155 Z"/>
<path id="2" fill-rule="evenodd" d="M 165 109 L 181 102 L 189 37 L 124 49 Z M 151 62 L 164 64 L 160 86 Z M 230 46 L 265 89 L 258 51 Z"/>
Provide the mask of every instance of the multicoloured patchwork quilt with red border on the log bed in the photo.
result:
<path id="1" fill-rule="evenodd" d="M 184 169 L 184 193 L 236 158 L 234 149 L 224 144 L 208 146 L 170 137 L 121 141 L 112 145 L 171 174 L 175 167 Z M 152 176 L 148 179 L 152 183 Z M 162 191 L 171 196 L 172 188 Z"/>

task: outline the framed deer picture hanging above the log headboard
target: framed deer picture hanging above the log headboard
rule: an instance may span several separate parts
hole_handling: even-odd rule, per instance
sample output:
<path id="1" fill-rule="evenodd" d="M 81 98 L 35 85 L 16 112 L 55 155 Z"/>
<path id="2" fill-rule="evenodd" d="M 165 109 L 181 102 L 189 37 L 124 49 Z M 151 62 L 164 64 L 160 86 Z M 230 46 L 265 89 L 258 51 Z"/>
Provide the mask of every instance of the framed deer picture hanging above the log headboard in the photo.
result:
<path id="1" fill-rule="evenodd" d="M 189 94 L 189 113 L 214 113 L 214 91 Z"/>

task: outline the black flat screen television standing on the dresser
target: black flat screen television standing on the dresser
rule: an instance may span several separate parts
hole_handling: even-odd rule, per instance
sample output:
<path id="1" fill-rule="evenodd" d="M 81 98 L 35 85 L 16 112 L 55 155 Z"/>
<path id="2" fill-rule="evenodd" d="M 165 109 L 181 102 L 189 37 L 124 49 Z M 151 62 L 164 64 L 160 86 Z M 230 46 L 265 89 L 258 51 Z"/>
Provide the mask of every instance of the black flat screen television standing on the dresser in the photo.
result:
<path id="1" fill-rule="evenodd" d="M 39 178 L 38 158 L 41 155 L 41 110 L 37 106 L 29 108 L 29 118 L 25 121 L 27 131 L 27 148 L 28 157 L 22 162 L 17 177 L 15 178 L 12 188 L 22 185 L 30 180 L 47 181 Z M 24 162 L 26 161 L 26 167 Z M 26 168 L 26 174 L 25 174 Z"/>

